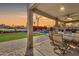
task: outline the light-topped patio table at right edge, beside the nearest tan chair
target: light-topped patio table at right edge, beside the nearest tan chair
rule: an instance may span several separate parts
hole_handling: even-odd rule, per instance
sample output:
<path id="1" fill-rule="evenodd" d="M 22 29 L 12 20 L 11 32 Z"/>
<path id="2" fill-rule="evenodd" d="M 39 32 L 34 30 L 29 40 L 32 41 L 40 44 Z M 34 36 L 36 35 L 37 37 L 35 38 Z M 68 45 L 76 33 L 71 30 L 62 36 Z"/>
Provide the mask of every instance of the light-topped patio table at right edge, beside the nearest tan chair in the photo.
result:
<path id="1" fill-rule="evenodd" d="M 63 39 L 66 43 L 79 47 L 79 34 L 77 33 L 67 33 L 63 34 Z"/>

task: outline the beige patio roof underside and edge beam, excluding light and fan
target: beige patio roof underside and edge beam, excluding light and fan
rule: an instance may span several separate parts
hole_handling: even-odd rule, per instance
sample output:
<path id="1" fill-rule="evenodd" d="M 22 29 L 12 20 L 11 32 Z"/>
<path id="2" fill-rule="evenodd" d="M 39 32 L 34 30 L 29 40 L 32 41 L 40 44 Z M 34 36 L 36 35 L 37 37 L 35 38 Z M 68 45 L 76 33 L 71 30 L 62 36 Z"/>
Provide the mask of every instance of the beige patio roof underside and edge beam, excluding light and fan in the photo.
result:
<path id="1" fill-rule="evenodd" d="M 64 7 L 65 10 L 61 11 L 60 8 Z M 60 22 L 79 22 L 79 16 L 75 20 L 63 20 L 60 17 L 63 17 L 63 15 L 79 12 L 79 4 L 78 3 L 35 3 L 32 5 L 33 12 L 40 14 L 42 16 L 48 17 L 50 19 L 58 20 Z"/>

